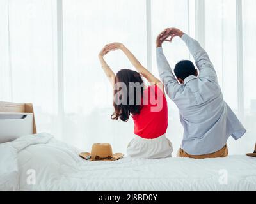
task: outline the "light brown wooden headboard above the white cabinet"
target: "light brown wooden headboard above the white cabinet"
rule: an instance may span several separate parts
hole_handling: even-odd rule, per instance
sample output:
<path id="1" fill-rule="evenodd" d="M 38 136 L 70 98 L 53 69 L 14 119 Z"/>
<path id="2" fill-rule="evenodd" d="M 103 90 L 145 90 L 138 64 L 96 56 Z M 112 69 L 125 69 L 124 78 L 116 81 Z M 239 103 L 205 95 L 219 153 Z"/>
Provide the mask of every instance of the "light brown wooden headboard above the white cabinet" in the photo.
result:
<path id="1" fill-rule="evenodd" d="M 0 112 L 3 113 L 33 113 L 33 134 L 36 134 L 35 115 L 32 103 L 11 103 L 0 101 Z"/>

